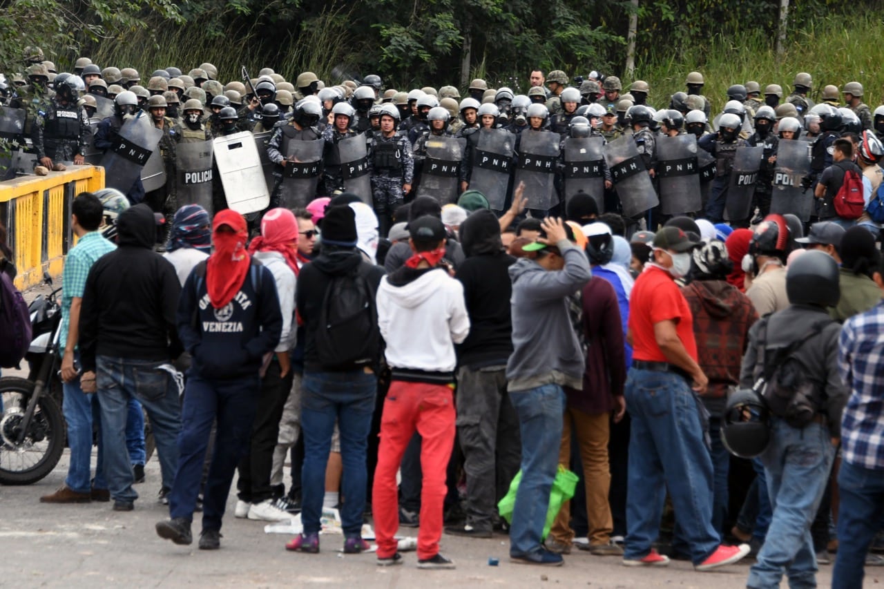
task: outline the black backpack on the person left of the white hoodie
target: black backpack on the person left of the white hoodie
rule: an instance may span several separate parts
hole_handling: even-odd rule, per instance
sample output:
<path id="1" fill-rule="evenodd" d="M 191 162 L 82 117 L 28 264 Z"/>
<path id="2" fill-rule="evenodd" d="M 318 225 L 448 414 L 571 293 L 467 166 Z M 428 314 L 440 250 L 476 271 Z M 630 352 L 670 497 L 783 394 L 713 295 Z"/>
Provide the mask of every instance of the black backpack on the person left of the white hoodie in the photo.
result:
<path id="1" fill-rule="evenodd" d="M 380 350 L 377 308 L 368 279 L 356 270 L 331 278 L 319 311 L 314 344 L 329 371 L 371 366 Z"/>

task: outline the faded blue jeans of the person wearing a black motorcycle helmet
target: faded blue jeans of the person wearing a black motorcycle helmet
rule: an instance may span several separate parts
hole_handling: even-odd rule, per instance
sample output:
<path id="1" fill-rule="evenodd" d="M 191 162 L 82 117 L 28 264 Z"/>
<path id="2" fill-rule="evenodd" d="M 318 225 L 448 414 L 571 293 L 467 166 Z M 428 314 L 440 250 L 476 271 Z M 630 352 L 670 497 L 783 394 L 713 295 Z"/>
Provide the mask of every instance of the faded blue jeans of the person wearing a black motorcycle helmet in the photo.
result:
<path id="1" fill-rule="evenodd" d="M 828 428 L 812 423 L 799 430 L 773 417 L 770 444 L 759 458 L 765 465 L 773 517 L 746 585 L 779 587 L 786 573 L 792 589 L 816 587 L 811 524 L 834 459 Z"/>

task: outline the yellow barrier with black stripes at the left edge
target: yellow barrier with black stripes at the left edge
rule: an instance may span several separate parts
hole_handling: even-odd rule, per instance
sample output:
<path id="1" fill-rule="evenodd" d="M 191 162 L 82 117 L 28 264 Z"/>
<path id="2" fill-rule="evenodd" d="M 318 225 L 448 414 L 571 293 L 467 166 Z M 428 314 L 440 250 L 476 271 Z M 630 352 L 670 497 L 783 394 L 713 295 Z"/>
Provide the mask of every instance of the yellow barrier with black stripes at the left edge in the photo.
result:
<path id="1" fill-rule="evenodd" d="M 19 176 L 0 182 L 0 219 L 19 270 L 15 286 L 33 287 L 43 272 L 61 275 L 72 246 L 71 203 L 81 192 L 104 187 L 104 168 L 70 165 L 48 176 Z"/>

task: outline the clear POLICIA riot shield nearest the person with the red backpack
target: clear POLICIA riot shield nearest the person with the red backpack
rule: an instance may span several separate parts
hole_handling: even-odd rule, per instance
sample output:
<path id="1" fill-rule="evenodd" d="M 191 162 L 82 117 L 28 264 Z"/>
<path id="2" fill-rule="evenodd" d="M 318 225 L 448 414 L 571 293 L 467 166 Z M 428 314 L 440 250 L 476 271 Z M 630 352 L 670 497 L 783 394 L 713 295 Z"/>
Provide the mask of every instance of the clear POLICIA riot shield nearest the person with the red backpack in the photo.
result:
<path id="1" fill-rule="evenodd" d="M 773 169 L 771 212 L 792 213 L 802 221 L 811 217 L 813 195 L 801 187 L 801 180 L 810 172 L 807 143 L 781 139 L 777 148 L 776 167 Z"/>

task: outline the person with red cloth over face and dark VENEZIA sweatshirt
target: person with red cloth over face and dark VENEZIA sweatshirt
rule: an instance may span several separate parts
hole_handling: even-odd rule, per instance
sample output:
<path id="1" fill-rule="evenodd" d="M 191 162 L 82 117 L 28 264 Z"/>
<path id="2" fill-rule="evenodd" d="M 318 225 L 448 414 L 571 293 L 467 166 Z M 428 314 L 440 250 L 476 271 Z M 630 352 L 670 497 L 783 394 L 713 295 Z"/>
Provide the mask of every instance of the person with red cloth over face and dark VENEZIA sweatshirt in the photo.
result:
<path id="1" fill-rule="evenodd" d="M 265 354 L 282 333 L 273 274 L 246 250 L 246 219 L 222 210 L 212 223 L 214 252 L 194 268 L 181 290 L 178 332 L 193 356 L 181 409 L 180 457 L 169 493 L 170 520 L 156 533 L 190 544 L 190 524 L 202 461 L 217 420 L 214 455 L 202 506 L 200 548 L 220 546 L 221 518 L 237 463 L 248 450 Z"/>

